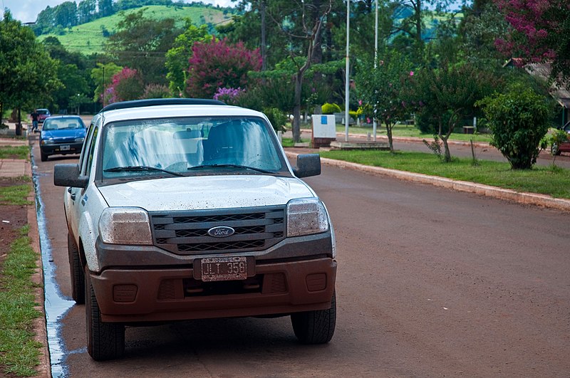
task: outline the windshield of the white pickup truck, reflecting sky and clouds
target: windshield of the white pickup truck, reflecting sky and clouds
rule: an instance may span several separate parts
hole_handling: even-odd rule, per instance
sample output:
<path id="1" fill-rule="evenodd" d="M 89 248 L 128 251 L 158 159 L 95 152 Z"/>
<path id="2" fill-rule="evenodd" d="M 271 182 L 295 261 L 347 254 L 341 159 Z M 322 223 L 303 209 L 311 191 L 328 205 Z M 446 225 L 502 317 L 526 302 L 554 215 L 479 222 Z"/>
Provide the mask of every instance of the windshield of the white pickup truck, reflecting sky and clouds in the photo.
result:
<path id="1" fill-rule="evenodd" d="M 270 127 L 257 117 L 113 122 L 103 133 L 103 179 L 164 172 L 284 172 L 286 163 Z"/>

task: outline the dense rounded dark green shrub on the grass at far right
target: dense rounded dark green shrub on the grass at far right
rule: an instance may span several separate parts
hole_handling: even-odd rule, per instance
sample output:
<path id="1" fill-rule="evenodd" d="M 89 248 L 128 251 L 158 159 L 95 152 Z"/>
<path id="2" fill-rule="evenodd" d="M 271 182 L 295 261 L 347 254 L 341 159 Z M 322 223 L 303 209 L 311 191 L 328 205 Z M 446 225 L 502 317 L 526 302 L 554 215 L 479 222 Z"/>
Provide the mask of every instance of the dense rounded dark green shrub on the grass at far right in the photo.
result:
<path id="1" fill-rule="evenodd" d="M 540 142 L 548 132 L 551 109 L 546 99 L 530 89 L 512 88 L 477 102 L 489 121 L 491 145 L 507 158 L 512 169 L 530 169 L 537 162 Z"/>

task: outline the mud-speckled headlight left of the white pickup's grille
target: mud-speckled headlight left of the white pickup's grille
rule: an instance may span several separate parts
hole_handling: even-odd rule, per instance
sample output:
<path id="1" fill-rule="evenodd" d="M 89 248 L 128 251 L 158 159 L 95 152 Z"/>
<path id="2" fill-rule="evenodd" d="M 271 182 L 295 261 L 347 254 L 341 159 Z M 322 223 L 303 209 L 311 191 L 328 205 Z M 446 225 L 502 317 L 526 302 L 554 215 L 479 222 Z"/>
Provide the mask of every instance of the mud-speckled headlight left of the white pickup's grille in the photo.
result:
<path id="1" fill-rule="evenodd" d="M 152 245 L 148 213 L 138 207 L 108 207 L 99 219 L 103 243 Z"/>

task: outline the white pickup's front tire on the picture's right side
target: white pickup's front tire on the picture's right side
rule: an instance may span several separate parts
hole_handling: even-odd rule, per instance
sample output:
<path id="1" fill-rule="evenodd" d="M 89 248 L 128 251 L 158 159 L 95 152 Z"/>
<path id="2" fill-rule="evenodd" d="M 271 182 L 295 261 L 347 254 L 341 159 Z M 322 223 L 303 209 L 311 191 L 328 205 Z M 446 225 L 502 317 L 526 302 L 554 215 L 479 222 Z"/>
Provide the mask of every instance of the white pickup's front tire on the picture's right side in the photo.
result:
<path id="1" fill-rule="evenodd" d="M 336 327 L 336 293 L 328 310 L 291 314 L 295 336 L 302 344 L 326 344 L 331 341 Z"/>

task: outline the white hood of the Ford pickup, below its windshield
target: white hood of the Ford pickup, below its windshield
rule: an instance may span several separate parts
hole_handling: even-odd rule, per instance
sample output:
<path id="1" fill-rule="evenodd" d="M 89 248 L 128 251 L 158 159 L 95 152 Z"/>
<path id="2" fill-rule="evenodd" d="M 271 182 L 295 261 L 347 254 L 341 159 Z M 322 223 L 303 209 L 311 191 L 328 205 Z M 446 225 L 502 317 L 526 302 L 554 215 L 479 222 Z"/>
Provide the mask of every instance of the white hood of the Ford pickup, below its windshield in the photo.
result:
<path id="1" fill-rule="evenodd" d="M 286 204 L 314 192 L 294 177 L 262 175 L 172 177 L 99 188 L 108 205 L 147 211 L 227 209 Z"/>

